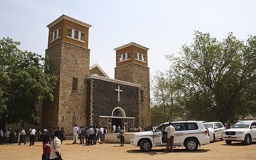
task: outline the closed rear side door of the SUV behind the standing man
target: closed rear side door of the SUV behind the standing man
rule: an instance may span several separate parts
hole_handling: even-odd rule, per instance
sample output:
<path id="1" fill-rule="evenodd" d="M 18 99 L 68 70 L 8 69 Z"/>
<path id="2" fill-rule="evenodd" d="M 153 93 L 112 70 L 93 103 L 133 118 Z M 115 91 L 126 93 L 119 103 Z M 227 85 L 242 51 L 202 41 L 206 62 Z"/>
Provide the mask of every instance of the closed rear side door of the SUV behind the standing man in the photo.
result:
<path id="1" fill-rule="evenodd" d="M 175 128 L 174 145 L 183 145 L 183 141 L 187 136 L 186 123 L 173 123 Z"/>

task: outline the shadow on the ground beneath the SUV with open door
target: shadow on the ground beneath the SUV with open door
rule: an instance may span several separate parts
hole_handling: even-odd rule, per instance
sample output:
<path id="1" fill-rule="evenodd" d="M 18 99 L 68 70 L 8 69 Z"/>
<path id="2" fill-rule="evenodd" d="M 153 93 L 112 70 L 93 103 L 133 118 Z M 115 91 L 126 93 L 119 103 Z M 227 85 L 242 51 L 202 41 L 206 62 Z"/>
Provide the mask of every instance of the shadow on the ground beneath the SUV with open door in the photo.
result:
<path id="1" fill-rule="evenodd" d="M 148 154 L 148 155 L 159 155 L 159 154 L 168 154 L 168 153 L 165 153 L 164 152 L 165 149 L 152 149 L 151 151 L 149 152 L 142 152 L 141 150 L 139 149 L 136 149 L 136 150 L 127 150 L 126 152 L 127 153 L 144 153 L 144 154 Z M 197 151 L 195 152 L 189 152 L 189 151 L 186 151 L 186 149 L 174 149 L 174 152 L 173 153 L 204 153 L 204 152 L 208 152 L 210 150 L 208 149 L 198 149 Z M 169 154 L 172 154 L 172 153 L 169 153 Z"/>

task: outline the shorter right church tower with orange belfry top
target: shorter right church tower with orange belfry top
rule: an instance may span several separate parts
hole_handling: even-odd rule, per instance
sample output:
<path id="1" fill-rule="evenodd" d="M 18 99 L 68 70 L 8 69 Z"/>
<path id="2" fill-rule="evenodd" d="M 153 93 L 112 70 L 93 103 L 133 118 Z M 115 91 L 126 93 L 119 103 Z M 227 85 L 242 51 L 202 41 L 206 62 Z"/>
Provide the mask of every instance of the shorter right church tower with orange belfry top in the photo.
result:
<path id="1" fill-rule="evenodd" d="M 147 67 L 149 49 L 131 42 L 114 50 L 116 51 L 115 79 L 140 84 L 139 125 L 150 126 L 150 68 Z"/>

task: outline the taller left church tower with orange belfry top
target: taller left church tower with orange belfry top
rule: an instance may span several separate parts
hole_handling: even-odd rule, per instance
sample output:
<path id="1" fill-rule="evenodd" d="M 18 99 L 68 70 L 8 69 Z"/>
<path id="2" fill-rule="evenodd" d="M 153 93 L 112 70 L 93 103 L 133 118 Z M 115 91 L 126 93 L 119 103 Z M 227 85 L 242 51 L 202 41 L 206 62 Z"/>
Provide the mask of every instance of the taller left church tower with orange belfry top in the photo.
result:
<path id="1" fill-rule="evenodd" d="M 54 101 L 43 102 L 42 127 L 64 127 L 66 135 L 71 135 L 76 123 L 86 126 L 91 25 L 62 15 L 47 27 L 46 56 L 58 80 L 53 92 Z"/>

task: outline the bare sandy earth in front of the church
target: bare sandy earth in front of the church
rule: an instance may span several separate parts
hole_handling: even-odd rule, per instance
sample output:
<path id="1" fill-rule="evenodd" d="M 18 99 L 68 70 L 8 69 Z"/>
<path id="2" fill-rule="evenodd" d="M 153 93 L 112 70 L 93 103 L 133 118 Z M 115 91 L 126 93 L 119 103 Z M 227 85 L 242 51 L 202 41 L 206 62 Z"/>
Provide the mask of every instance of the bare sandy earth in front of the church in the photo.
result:
<path id="1" fill-rule="evenodd" d="M 136 160 L 136 159 L 256 159 L 256 142 L 249 146 L 233 142 L 226 145 L 224 141 L 201 146 L 196 152 L 187 152 L 184 147 L 175 148 L 173 153 L 164 153 L 163 147 L 153 148 L 151 152 L 141 152 L 139 147 L 125 144 L 97 144 L 94 146 L 72 145 L 72 141 L 63 141 L 61 154 L 64 160 L 67 159 L 104 159 L 104 160 Z M 36 142 L 35 146 L 22 144 L 0 145 L 0 159 L 41 159 L 42 143 Z"/>

